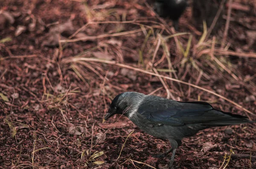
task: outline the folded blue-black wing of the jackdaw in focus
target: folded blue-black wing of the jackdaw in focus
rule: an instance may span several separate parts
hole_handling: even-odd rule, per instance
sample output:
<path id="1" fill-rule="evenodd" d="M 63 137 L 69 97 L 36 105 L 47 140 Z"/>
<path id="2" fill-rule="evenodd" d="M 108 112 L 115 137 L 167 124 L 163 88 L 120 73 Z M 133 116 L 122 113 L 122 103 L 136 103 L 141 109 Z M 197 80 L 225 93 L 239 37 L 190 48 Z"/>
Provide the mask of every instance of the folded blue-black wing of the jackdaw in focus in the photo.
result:
<path id="1" fill-rule="evenodd" d="M 138 113 L 143 115 L 151 125 L 180 126 L 184 124 L 214 124 L 219 121 L 246 118 L 241 115 L 221 112 L 203 101 L 180 102 L 169 99 L 145 99 L 138 108 Z"/>

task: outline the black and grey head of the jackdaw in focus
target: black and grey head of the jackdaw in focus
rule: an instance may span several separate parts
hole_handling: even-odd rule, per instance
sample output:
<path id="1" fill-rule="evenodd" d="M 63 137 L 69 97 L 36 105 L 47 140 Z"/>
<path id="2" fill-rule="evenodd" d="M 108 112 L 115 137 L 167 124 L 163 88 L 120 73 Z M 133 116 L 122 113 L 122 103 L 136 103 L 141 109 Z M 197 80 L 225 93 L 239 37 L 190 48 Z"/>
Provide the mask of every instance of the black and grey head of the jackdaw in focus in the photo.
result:
<path id="1" fill-rule="evenodd" d="M 136 93 L 136 92 L 125 92 L 117 95 L 113 99 L 108 109 L 108 112 L 105 115 L 105 120 L 107 120 L 108 118 L 111 118 L 115 114 L 124 113 L 124 115 L 127 116 L 129 113 L 129 109 L 130 108 L 132 109 L 137 104 L 138 102 L 137 99 L 140 99 L 141 98 L 140 96 L 142 95 L 144 94 Z"/>

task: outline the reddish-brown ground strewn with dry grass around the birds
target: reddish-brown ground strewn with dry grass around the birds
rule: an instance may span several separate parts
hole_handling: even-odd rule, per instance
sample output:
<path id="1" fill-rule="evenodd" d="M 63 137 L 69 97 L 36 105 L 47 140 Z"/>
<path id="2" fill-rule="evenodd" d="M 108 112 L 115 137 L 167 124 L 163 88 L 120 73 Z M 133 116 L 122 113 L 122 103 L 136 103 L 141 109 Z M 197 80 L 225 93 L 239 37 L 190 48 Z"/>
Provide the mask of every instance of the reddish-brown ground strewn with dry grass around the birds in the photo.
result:
<path id="1" fill-rule="evenodd" d="M 256 120 L 255 1 L 228 0 L 212 33 L 195 24 L 191 6 L 178 33 L 151 7 L 145 0 L 1 0 L 1 169 L 166 168 L 171 155 L 152 155 L 168 141 L 119 115 L 103 121 L 124 91 L 208 101 Z M 255 169 L 256 124 L 185 138 L 174 165 Z"/>

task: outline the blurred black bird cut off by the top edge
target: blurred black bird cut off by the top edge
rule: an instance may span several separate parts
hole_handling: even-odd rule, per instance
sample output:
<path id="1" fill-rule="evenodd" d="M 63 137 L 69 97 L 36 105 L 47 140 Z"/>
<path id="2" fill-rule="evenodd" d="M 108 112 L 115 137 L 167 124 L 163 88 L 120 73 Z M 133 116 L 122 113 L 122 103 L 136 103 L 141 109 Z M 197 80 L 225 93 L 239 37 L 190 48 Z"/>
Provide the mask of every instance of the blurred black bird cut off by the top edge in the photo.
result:
<path id="1" fill-rule="evenodd" d="M 178 20 L 187 5 L 187 0 L 155 0 L 154 10 L 160 17 L 169 17 L 178 30 Z"/>

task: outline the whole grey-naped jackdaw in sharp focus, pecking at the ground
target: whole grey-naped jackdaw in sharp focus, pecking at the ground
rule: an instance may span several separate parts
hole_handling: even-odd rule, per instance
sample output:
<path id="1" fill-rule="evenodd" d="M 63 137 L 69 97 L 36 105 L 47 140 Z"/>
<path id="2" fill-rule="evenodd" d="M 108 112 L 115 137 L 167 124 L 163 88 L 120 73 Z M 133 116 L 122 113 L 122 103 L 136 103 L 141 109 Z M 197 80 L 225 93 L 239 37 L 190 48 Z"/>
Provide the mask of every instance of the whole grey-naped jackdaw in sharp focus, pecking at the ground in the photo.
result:
<path id="1" fill-rule="evenodd" d="M 184 137 L 195 135 L 209 127 L 252 123 L 247 117 L 214 109 L 203 101 L 181 102 L 137 92 L 117 95 L 105 115 L 105 120 L 115 114 L 127 116 L 148 134 L 168 139 L 172 149 L 169 167 L 172 167 L 175 152 Z"/>

